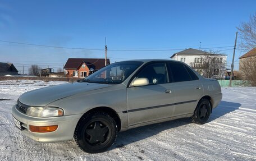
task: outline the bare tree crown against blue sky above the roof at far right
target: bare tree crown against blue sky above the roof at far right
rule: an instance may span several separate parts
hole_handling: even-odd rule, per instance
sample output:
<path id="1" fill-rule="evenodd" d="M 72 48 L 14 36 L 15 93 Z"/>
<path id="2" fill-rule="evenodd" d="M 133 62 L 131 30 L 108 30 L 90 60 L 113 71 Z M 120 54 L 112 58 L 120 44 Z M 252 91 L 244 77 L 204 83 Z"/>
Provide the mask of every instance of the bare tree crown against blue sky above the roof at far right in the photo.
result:
<path id="1" fill-rule="evenodd" d="M 256 47 L 256 13 L 250 16 L 248 22 L 242 22 L 237 30 L 240 34 L 241 48 L 251 50 Z"/>

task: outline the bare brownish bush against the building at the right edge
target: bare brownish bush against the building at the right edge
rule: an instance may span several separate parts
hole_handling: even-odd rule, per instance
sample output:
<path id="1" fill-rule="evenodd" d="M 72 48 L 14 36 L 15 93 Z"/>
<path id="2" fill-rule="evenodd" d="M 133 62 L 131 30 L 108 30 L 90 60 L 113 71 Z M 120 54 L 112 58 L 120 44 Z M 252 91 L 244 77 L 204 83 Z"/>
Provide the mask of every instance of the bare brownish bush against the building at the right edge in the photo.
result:
<path id="1" fill-rule="evenodd" d="M 243 80 L 247 80 L 250 85 L 256 86 L 256 57 L 240 59 L 239 65 Z"/>

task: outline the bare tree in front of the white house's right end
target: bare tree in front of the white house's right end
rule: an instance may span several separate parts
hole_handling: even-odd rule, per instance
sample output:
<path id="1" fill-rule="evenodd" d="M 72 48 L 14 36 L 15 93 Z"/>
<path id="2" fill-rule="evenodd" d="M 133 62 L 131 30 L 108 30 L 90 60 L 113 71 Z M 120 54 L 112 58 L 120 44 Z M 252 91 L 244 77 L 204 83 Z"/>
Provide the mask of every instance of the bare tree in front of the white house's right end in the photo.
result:
<path id="1" fill-rule="evenodd" d="M 217 51 L 209 50 L 201 57 L 203 76 L 207 78 L 222 79 L 225 76 L 226 62 Z"/>

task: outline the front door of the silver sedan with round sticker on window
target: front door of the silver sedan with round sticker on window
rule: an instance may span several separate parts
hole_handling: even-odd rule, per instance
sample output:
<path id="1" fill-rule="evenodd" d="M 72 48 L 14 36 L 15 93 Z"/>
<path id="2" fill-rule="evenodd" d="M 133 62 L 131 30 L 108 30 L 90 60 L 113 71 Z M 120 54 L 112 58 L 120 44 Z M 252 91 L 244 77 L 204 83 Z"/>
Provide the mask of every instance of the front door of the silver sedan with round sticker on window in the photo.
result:
<path id="1" fill-rule="evenodd" d="M 171 117 L 174 108 L 174 94 L 171 92 L 167 65 L 156 62 L 145 65 L 135 76 L 149 80 L 147 86 L 127 88 L 129 126 Z"/>

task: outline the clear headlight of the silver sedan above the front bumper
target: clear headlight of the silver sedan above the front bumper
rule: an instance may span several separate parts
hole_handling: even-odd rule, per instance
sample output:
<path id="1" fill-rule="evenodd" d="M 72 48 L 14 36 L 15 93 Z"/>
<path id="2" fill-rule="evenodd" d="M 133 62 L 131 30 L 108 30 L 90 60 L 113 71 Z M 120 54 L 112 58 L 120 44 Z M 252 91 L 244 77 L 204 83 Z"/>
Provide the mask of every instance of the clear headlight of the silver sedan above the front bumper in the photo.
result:
<path id="1" fill-rule="evenodd" d="M 63 110 L 57 107 L 29 107 L 26 114 L 34 117 L 63 116 Z"/>

